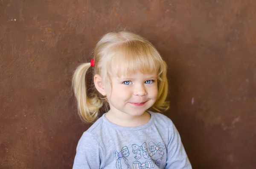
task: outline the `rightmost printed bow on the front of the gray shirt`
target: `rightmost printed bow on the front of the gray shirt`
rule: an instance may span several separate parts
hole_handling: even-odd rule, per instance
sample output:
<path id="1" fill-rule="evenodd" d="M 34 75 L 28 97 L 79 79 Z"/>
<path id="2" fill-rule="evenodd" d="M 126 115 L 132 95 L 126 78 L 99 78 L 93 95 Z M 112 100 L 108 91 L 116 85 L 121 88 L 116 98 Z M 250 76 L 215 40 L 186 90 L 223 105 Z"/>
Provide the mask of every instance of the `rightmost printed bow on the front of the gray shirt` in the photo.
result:
<path id="1" fill-rule="evenodd" d="M 164 143 L 160 142 L 160 143 L 158 143 L 158 145 L 156 145 L 153 142 L 149 142 L 148 143 L 148 149 L 151 152 L 148 155 L 150 157 L 152 157 L 152 160 L 154 161 L 154 163 L 157 166 L 160 166 L 161 161 L 163 159 L 163 155 L 164 155 L 164 152 L 163 152 L 163 150 L 165 149 Z"/>

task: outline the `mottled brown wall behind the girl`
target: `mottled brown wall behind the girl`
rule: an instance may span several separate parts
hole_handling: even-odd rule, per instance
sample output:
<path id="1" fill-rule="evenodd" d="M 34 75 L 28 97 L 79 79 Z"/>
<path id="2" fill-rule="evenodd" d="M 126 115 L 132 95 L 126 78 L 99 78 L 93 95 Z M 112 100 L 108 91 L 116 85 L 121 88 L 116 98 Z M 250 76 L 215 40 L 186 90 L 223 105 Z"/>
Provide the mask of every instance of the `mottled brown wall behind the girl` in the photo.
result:
<path id="1" fill-rule="evenodd" d="M 1 0 L 0 168 L 72 168 L 89 127 L 72 72 L 123 29 L 168 63 L 166 115 L 193 168 L 255 169 L 255 0 Z"/>

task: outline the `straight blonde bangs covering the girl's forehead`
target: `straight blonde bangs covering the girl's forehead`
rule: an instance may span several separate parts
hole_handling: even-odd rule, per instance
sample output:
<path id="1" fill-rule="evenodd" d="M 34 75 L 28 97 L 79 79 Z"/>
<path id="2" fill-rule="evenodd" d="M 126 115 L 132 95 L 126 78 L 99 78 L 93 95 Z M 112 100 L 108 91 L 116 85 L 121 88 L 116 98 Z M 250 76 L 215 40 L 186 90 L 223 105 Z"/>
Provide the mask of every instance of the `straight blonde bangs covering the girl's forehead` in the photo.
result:
<path id="1" fill-rule="evenodd" d="M 111 58 L 107 63 L 111 76 L 129 76 L 136 72 L 159 74 L 162 72 L 162 57 L 151 44 L 141 41 L 128 41 L 112 46 L 108 51 Z"/>

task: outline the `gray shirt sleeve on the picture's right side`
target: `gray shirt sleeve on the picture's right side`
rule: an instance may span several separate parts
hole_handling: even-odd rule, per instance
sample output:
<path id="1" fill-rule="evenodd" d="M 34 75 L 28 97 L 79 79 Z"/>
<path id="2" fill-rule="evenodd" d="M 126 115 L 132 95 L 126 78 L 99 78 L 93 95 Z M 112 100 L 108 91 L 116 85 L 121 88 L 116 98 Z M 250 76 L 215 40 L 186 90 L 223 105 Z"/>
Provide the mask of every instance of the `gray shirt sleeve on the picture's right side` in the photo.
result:
<path id="1" fill-rule="evenodd" d="M 172 123 L 170 140 L 167 146 L 167 161 L 165 169 L 192 169 L 180 135 Z"/>

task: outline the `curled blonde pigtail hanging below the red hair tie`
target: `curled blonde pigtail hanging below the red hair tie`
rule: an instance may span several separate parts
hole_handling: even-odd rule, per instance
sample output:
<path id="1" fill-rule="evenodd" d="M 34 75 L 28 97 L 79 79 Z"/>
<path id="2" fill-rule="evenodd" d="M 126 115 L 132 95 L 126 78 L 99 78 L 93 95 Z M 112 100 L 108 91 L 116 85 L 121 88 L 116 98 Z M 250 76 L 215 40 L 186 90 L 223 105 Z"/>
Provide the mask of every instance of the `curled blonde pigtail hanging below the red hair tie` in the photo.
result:
<path id="1" fill-rule="evenodd" d="M 86 123 L 93 122 L 102 107 L 102 101 L 96 94 L 89 98 L 87 96 L 86 73 L 90 63 L 83 63 L 77 67 L 72 79 L 72 86 L 77 100 L 79 116 Z"/>

